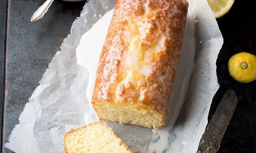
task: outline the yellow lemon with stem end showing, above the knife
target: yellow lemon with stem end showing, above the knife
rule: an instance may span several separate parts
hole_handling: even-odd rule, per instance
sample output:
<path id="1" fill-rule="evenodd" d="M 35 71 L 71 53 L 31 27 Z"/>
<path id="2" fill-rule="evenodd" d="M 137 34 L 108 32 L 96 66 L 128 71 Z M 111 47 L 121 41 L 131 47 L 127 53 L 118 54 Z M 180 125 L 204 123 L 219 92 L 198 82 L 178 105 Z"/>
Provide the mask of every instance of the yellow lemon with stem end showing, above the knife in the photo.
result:
<path id="1" fill-rule="evenodd" d="M 241 52 L 230 57 L 228 71 L 231 77 L 241 83 L 249 83 L 256 79 L 256 56 Z"/>

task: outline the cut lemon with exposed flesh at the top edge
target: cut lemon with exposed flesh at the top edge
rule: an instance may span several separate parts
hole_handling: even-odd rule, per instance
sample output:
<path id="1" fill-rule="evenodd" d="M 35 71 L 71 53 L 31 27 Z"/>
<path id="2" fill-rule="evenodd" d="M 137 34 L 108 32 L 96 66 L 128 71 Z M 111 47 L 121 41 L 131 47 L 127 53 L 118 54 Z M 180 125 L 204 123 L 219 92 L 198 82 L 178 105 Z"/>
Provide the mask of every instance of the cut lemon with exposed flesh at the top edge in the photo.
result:
<path id="1" fill-rule="evenodd" d="M 220 18 L 230 10 L 235 0 L 207 0 L 215 18 Z"/>

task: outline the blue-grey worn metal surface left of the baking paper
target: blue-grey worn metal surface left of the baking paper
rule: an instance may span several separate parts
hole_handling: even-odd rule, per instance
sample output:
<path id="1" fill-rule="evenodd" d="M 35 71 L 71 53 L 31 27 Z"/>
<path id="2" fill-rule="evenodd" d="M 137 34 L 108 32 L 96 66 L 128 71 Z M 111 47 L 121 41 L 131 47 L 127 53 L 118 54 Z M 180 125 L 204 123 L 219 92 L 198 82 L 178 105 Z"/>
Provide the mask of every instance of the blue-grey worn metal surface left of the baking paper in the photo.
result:
<path id="1" fill-rule="evenodd" d="M 44 0 L 8 0 L 3 143 L 85 2 L 55 0 L 38 22 L 30 22 Z M 2 147 L 4 153 L 11 153 Z"/>

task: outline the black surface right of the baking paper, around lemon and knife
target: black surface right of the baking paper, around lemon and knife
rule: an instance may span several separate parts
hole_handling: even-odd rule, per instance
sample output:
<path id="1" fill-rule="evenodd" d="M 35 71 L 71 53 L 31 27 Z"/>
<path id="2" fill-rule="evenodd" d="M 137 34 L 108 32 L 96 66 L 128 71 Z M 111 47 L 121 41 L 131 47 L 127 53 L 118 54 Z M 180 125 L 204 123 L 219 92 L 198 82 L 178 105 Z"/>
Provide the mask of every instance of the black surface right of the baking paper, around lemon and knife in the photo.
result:
<path id="1" fill-rule="evenodd" d="M 209 118 L 228 87 L 238 98 L 238 104 L 221 141 L 218 153 L 255 153 L 256 81 L 239 83 L 228 72 L 229 58 L 239 52 L 255 55 L 255 1 L 235 0 L 230 11 L 217 19 L 224 44 L 216 62 L 220 88 L 213 98 Z M 256 64 L 256 63 L 255 63 Z"/>

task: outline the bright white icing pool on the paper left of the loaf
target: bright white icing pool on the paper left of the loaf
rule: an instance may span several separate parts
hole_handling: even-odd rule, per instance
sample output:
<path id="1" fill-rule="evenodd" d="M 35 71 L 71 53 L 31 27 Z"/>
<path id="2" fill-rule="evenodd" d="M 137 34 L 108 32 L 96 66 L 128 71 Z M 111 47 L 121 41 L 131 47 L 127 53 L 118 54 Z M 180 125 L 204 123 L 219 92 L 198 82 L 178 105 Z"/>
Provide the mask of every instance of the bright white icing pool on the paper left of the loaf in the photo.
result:
<path id="1" fill-rule="evenodd" d="M 95 83 L 97 65 L 100 60 L 100 53 L 108 32 L 114 9 L 108 11 L 92 28 L 84 33 L 76 48 L 77 64 L 89 70 L 89 84 L 86 89 L 87 100 L 92 100 L 92 92 Z M 110 19 L 109 19 L 110 18 Z"/>

